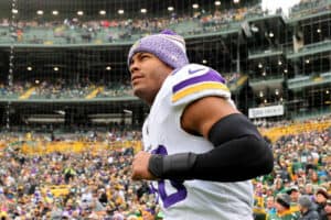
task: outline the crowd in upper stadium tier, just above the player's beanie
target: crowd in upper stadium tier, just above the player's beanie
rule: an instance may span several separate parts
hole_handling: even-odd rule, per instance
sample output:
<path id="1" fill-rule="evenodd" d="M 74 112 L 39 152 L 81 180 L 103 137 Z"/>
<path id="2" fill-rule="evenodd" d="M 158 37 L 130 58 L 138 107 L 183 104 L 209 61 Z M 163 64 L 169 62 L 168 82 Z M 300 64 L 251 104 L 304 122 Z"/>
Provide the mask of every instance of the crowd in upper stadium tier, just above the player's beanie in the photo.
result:
<path id="1" fill-rule="evenodd" d="M 29 44 L 113 43 L 137 40 L 158 33 L 166 28 L 182 35 L 202 34 L 229 29 L 246 18 L 263 15 L 260 6 L 213 11 L 194 10 L 191 14 L 169 13 L 160 18 L 120 18 L 86 21 L 84 18 L 65 18 L 63 21 L 18 21 L 0 23 L 0 42 L 12 40 Z M 53 18 L 54 19 L 54 18 Z M 11 42 L 11 41 L 9 41 Z"/>

